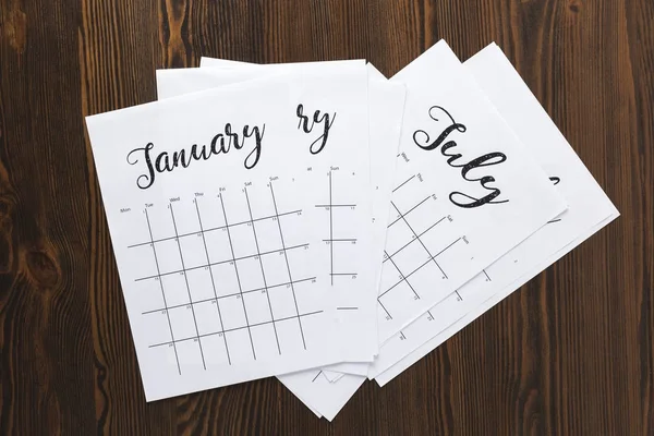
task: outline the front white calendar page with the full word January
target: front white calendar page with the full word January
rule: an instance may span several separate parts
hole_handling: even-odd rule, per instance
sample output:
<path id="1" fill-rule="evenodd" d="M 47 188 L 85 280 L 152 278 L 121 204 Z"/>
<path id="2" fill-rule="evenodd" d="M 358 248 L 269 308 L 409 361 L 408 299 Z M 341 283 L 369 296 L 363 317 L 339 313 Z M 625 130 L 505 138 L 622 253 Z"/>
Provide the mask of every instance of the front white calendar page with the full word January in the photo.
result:
<path id="1" fill-rule="evenodd" d="M 348 359 L 310 262 L 293 168 L 311 152 L 289 96 L 249 86 L 87 118 L 148 400 Z"/>

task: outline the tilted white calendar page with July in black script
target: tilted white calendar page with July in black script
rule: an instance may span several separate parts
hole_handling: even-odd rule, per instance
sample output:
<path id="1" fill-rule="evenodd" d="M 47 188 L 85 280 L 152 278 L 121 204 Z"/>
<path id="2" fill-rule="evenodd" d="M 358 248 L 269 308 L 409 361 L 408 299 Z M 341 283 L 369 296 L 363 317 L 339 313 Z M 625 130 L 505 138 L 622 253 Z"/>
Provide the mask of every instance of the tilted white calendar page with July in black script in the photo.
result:
<path id="1" fill-rule="evenodd" d="M 566 208 L 445 41 L 407 85 L 382 271 L 384 343 Z"/>

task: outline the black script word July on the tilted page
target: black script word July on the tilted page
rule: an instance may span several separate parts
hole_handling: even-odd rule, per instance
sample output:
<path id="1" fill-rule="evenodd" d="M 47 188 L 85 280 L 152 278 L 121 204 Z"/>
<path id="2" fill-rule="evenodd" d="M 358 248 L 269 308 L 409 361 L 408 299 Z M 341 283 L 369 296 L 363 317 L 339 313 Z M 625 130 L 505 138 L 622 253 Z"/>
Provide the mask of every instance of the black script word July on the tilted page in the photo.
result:
<path id="1" fill-rule="evenodd" d="M 413 142 L 420 148 L 424 150 L 434 150 L 440 146 L 440 154 L 447 157 L 447 164 L 452 168 L 461 168 L 461 177 L 469 182 L 480 182 L 480 184 L 487 191 L 491 191 L 489 194 L 477 198 L 472 195 L 464 194 L 462 192 L 455 191 L 449 194 L 449 199 L 455 205 L 464 208 L 480 207 L 485 204 L 500 204 L 507 203 L 508 199 L 496 199 L 500 195 L 500 190 L 498 187 L 489 186 L 488 183 L 495 182 L 495 178 L 492 175 L 484 175 L 481 178 L 470 177 L 469 173 L 471 170 L 480 167 L 491 167 L 494 165 L 499 165 L 507 160 L 507 156 L 499 152 L 487 153 L 483 156 L 474 158 L 470 160 L 468 164 L 457 164 L 459 159 L 462 158 L 461 154 L 452 153 L 451 148 L 457 146 L 455 141 L 448 141 L 444 144 L 444 141 L 452 133 L 465 133 L 467 128 L 461 123 L 457 123 L 452 116 L 449 114 L 447 110 L 441 108 L 440 106 L 433 106 L 429 108 L 429 118 L 434 121 L 438 121 L 438 118 L 434 116 L 433 111 L 439 111 L 445 113 L 451 124 L 448 125 L 440 135 L 433 142 L 431 142 L 429 134 L 424 130 L 417 130 L 413 133 Z M 423 136 L 424 141 L 420 141 L 419 136 Z"/>

